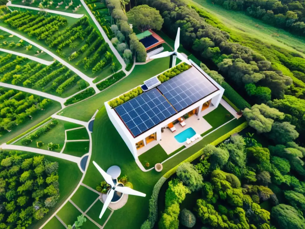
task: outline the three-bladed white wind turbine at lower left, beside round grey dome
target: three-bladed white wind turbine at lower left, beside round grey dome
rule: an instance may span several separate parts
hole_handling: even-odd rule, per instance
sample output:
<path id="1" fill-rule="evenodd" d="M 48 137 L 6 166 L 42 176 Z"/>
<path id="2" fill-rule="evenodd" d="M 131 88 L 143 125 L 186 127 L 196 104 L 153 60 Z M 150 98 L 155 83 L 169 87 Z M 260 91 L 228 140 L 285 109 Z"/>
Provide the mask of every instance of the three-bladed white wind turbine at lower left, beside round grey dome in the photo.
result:
<path id="1" fill-rule="evenodd" d="M 128 194 L 128 195 L 136 195 L 136 196 L 143 196 L 143 197 L 146 196 L 146 194 L 144 194 L 142 192 L 135 191 L 135 190 L 133 190 L 129 187 L 119 187 L 119 186 L 117 186 L 117 184 L 113 183 L 112 177 L 108 173 L 106 173 L 101 167 L 99 167 L 99 165 L 96 164 L 96 162 L 93 161 L 93 164 L 99 170 L 99 172 L 102 174 L 106 183 L 111 186 L 111 189 L 108 192 L 107 198 L 104 202 L 101 214 L 99 214 L 99 218 L 102 218 L 103 214 L 105 213 L 109 203 L 111 202 L 111 200 L 113 198 L 114 191 L 121 192 L 121 193 Z"/>

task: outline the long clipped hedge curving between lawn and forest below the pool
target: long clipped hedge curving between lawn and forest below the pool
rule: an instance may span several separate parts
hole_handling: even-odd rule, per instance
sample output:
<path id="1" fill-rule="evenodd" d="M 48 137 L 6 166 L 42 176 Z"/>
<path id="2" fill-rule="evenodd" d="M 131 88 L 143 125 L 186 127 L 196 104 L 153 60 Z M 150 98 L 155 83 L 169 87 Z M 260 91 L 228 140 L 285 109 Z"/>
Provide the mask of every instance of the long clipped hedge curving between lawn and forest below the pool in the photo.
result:
<path id="1" fill-rule="evenodd" d="M 224 140 L 229 138 L 232 134 L 235 134 L 235 133 L 238 133 L 238 132 L 242 131 L 247 126 L 248 126 L 248 123 L 247 122 L 243 122 L 239 126 L 235 127 L 231 131 L 229 131 L 228 133 L 224 134 L 223 136 L 217 138 L 215 141 L 211 142 L 210 145 L 217 146 L 218 144 L 220 144 L 221 142 L 223 142 Z M 174 168 L 172 168 L 169 171 L 167 171 L 158 180 L 158 182 L 155 184 L 155 186 L 153 188 L 152 196 L 149 199 L 149 216 L 148 216 L 148 219 L 144 221 L 144 223 L 141 226 L 141 229 L 146 229 L 148 227 L 153 228 L 154 224 L 157 221 L 157 216 L 158 216 L 158 195 L 159 195 L 159 191 L 160 191 L 162 185 L 164 184 L 164 182 L 168 178 L 170 178 L 170 176 L 172 176 L 174 173 L 176 173 L 176 170 L 178 169 L 179 165 L 181 165 L 181 164 L 183 164 L 185 162 L 192 162 L 196 158 L 199 158 L 202 154 L 203 154 L 202 150 L 197 151 L 195 154 L 193 154 L 192 156 L 186 158 L 183 162 L 180 162 Z"/>

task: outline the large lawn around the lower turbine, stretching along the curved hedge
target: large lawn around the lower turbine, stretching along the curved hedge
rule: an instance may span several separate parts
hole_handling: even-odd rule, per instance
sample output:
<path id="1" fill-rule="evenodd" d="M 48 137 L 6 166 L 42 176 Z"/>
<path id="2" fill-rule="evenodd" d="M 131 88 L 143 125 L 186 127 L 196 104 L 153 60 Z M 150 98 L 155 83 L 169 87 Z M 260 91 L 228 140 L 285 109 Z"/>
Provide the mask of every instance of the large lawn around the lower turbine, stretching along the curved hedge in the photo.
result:
<path id="1" fill-rule="evenodd" d="M 206 144 L 216 140 L 242 122 L 244 122 L 242 118 L 235 119 L 192 147 L 185 149 L 180 154 L 165 162 L 163 164 L 163 170 L 160 173 L 154 169 L 149 172 L 143 172 L 136 165 L 135 159 L 109 120 L 105 107 L 102 107 L 95 117 L 92 133 L 92 155 L 83 183 L 95 188 L 102 180 L 102 176 L 98 174 L 92 161 L 95 161 L 104 170 L 107 170 L 112 165 L 118 165 L 121 169 L 121 174 L 127 175 L 128 181 L 133 184 L 133 188 L 146 194 L 146 197 L 129 195 L 126 205 L 114 211 L 106 228 L 117 228 L 117 220 L 122 218 L 124 218 L 124 224 L 128 225 L 129 228 L 140 228 L 148 216 L 149 198 L 154 185 L 160 177 L 169 169 L 203 148 Z M 101 146 L 103 146 L 102 150 Z M 99 214 L 99 211 L 96 214 Z"/>

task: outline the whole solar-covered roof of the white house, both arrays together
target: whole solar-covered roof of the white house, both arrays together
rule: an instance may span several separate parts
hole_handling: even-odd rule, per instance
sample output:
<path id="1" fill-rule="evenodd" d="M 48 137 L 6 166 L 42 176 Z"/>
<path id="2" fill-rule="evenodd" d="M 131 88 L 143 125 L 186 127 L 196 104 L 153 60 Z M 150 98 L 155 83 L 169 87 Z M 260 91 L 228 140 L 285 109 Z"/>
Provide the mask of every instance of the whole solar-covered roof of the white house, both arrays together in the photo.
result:
<path id="1" fill-rule="evenodd" d="M 196 67 L 114 108 L 133 137 L 219 90 Z"/>

